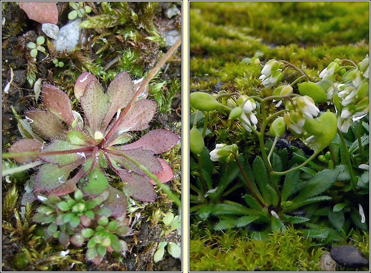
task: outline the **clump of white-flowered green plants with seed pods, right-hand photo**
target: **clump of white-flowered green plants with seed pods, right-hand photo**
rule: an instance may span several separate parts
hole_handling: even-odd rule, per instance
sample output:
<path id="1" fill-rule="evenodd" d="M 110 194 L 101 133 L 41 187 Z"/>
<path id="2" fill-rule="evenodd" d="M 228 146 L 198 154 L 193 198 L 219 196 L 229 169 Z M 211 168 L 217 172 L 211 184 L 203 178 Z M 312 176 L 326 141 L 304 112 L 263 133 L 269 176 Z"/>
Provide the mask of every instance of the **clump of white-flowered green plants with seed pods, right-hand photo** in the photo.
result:
<path id="1" fill-rule="evenodd" d="M 361 182 L 362 171 L 352 163 L 357 162 L 359 166 L 369 162 L 363 156 L 362 147 L 365 139 L 362 118 L 369 113 L 368 71 L 369 56 L 358 65 L 348 59 L 335 59 L 319 74 L 321 80 L 316 82 L 313 77 L 285 60 L 269 60 L 261 69 L 259 77 L 265 88 L 274 89 L 285 73 L 294 72 L 297 76 L 290 84 L 275 88 L 266 97 L 226 91 L 216 95 L 191 93 L 191 111 L 195 114 L 192 114 L 190 151 L 198 166 L 197 183 L 190 185 L 196 193 L 191 194 L 190 202 L 195 204 L 191 206 L 191 212 L 197 212 L 203 220 L 209 215 L 220 217 L 221 220 L 214 226 L 216 230 L 240 228 L 254 222 L 259 225 L 270 224 L 270 229 L 274 231 L 287 229 L 284 223 L 301 223 L 309 228 L 306 231 L 303 229 L 304 234 L 320 232 L 318 225 L 310 223 L 310 217 L 315 211 L 312 210 L 320 202 L 324 202 L 324 205 L 339 202 L 329 190 L 337 181 L 348 181 L 347 185 L 343 184 L 343 191 L 351 191 L 356 195 L 362 194 L 368 187 L 368 179 L 365 178 L 366 184 Z M 277 108 L 273 113 L 267 111 L 271 102 Z M 328 107 L 320 111 L 324 107 L 323 103 L 327 103 Z M 252 166 L 248 157 L 238 151 L 242 142 L 237 145 L 228 140 L 219 141 L 215 149 L 208 151 L 203 138 L 211 130 L 208 128 L 211 116 L 220 119 L 228 116 L 230 128 L 242 125 L 247 137 L 257 137 L 260 155 L 255 157 Z M 203 128 L 198 129 L 197 125 L 201 122 Z M 351 154 L 343 135 L 348 133 L 353 122 L 357 123 L 358 129 L 353 131 L 355 139 L 351 145 Z M 270 126 L 269 134 L 274 137 L 273 141 L 265 137 L 267 126 Z M 299 149 L 295 151 L 290 148 L 289 152 L 294 153 L 289 161 L 288 150 L 277 149 L 278 140 L 286 129 L 313 150 L 309 156 L 305 156 Z M 325 152 L 326 158 L 320 155 L 324 149 L 328 150 Z M 354 153 L 356 150 L 359 154 Z M 212 161 L 223 162 L 220 182 L 215 183 L 211 178 Z M 325 162 L 325 165 L 319 161 Z M 342 164 L 339 165 L 339 162 Z M 346 177 L 343 172 L 347 173 Z M 281 179 L 282 176 L 284 179 Z M 238 182 L 232 184 L 237 178 Z M 229 193 L 240 187 L 246 187 L 244 199 L 248 207 L 226 199 Z M 351 216 L 353 224 L 362 229 L 367 228 L 363 210 L 357 208 L 358 205 L 363 206 L 348 204 L 348 211 L 356 212 Z M 290 214 L 298 208 L 304 208 L 306 214 Z M 331 208 L 328 209 L 326 215 L 331 224 L 338 230 L 345 228 L 344 221 L 336 219 L 344 219 L 346 211 L 332 212 Z"/>

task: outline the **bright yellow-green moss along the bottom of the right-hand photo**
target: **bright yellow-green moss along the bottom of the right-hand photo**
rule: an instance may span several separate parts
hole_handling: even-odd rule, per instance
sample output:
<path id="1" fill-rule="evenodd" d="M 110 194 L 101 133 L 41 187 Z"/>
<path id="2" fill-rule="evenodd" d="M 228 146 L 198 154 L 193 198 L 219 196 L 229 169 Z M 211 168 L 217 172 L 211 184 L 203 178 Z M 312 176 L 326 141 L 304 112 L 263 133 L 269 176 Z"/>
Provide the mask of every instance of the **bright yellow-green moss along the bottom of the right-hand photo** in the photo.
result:
<path id="1" fill-rule="evenodd" d="M 195 228 L 195 226 L 193 227 Z M 319 271 L 325 252 L 312 239 L 293 229 L 269 234 L 268 240 L 251 240 L 247 230 L 238 233 L 198 234 L 191 229 L 191 271 Z"/>

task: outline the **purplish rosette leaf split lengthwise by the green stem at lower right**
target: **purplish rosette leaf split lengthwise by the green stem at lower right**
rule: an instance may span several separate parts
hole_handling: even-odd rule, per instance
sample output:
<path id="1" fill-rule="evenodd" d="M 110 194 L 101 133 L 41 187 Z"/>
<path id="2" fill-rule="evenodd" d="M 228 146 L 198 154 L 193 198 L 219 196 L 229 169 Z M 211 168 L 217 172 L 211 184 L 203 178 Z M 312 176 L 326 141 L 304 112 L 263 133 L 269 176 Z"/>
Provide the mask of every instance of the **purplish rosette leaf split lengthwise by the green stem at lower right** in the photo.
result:
<path id="1" fill-rule="evenodd" d="M 122 154 L 131 157 L 132 159 L 137 160 L 140 164 L 144 165 L 151 173 L 158 173 L 162 170 L 161 163 L 155 156 L 153 156 L 152 151 L 142 150 L 142 149 L 133 149 L 125 150 L 121 152 Z M 117 163 L 123 166 L 126 170 L 135 172 L 139 175 L 144 175 L 143 171 L 139 169 L 134 163 L 130 162 L 129 159 L 126 159 L 125 156 L 116 156 L 113 154 L 107 153 L 107 156 L 114 159 Z"/>

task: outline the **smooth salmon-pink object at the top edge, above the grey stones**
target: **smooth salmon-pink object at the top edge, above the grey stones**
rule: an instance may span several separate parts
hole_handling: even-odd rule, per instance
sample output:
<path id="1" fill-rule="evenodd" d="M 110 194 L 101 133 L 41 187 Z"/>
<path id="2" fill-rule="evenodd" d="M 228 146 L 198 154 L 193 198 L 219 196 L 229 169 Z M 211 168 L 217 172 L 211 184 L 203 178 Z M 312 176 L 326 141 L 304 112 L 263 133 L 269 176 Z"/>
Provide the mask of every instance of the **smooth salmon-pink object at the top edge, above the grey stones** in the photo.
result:
<path id="1" fill-rule="evenodd" d="M 57 2 L 18 2 L 28 18 L 39 23 L 58 23 Z"/>

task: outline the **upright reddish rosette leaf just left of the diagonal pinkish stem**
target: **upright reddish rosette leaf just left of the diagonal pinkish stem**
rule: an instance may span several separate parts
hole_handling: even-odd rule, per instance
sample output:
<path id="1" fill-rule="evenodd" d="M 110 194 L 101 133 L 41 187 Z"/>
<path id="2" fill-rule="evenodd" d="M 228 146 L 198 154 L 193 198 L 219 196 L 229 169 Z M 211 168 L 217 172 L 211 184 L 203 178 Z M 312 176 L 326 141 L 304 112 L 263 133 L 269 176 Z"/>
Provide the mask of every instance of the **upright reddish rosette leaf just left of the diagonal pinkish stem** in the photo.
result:
<path id="1" fill-rule="evenodd" d="M 125 108 L 134 96 L 133 82 L 129 74 L 126 71 L 117 74 L 117 76 L 111 81 L 107 93 L 111 104 L 106 116 L 104 117 L 104 130 L 106 130 L 107 125 L 112 120 L 112 117 L 117 113 L 117 110 L 119 108 Z"/>

